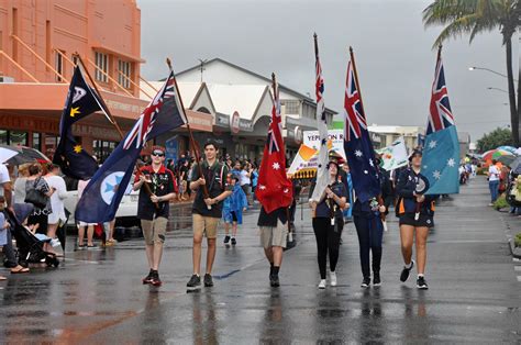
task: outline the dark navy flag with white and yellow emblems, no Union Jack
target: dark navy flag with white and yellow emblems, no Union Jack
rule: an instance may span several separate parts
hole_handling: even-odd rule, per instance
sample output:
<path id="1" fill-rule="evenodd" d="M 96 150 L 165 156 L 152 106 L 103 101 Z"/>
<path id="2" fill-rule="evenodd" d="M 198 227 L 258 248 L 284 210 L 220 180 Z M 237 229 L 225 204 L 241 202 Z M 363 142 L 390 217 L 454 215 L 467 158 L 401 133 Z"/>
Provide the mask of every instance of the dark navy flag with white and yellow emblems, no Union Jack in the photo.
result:
<path id="1" fill-rule="evenodd" d="M 69 177 L 88 180 L 98 170 L 96 159 L 73 136 L 73 124 L 96 111 L 106 112 L 100 97 L 87 84 L 81 69 L 76 67 L 59 122 L 59 143 L 53 157 L 53 163 Z"/>

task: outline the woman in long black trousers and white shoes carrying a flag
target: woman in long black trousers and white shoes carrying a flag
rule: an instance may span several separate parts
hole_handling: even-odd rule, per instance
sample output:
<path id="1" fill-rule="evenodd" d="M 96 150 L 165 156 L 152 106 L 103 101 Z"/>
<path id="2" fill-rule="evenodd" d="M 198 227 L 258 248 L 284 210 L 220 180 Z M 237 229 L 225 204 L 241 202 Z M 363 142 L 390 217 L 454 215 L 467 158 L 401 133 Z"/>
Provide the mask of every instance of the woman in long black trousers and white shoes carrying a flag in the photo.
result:
<path id="1" fill-rule="evenodd" d="M 330 185 L 319 202 L 312 201 L 313 231 L 317 240 L 317 259 L 320 270 L 319 289 L 326 286 L 326 264 L 330 258 L 330 283 L 336 286 L 336 263 L 339 261 L 339 246 L 342 230 L 344 227 L 343 209 L 348 207 L 347 190 L 342 181 L 339 181 L 339 163 L 330 160 L 328 164 Z M 311 191 L 311 194 L 313 192 Z"/>

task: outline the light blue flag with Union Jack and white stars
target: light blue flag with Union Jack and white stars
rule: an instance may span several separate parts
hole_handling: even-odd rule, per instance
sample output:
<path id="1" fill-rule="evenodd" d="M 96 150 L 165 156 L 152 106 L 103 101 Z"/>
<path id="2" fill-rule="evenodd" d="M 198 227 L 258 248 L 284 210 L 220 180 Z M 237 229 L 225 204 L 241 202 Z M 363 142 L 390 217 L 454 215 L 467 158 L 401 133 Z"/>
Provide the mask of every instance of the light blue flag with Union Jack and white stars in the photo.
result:
<path id="1" fill-rule="evenodd" d="M 457 193 L 459 192 L 459 141 L 448 102 L 441 48 L 437 54 L 429 110 L 421 169 L 431 186 L 426 193 Z"/>

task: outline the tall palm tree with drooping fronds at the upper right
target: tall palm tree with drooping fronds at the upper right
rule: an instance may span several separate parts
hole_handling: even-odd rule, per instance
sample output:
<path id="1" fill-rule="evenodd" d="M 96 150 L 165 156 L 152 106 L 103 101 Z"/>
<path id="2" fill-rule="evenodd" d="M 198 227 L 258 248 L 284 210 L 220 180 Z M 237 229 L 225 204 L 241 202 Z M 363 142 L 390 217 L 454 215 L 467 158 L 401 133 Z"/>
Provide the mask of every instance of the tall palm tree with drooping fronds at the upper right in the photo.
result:
<path id="1" fill-rule="evenodd" d="M 444 25 L 433 47 L 448 38 L 469 34 L 472 43 L 477 34 L 499 30 L 507 53 L 507 79 L 510 102 L 510 125 L 513 143 L 520 145 L 519 119 L 521 107 L 521 69 L 518 80 L 518 107 L 512 71 L 512 35 L 520 25 L 521 3 L 518 0 L 434 0 L 423 10 L 425 27 Z"/>

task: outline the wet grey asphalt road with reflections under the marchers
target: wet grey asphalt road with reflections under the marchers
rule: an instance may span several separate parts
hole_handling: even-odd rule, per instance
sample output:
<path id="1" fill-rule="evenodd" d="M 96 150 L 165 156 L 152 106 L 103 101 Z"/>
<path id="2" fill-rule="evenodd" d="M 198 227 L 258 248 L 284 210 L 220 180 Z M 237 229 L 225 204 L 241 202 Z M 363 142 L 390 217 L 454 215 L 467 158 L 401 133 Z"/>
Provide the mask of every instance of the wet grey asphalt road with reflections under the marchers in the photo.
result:
<path id="1" fill-rule="evenodd" d="M 428 291 L 415 289 L 414 276 L 399 282 L 393 216 L 385 234 L 384 285 L 368 290 L 359 288 L 352 224 L 344 230 L 339 287 L 317 289 L 306 209 L 303 222 L 298 210 L 299 244 L 286 252 L 278 289 L 267 281 L 257 211 L 245 216 L 237 247 L 221 246 L 221 234 L 215 287 L 197 293 L 185 289 L 191 274 L 186 209 L 176 211 L 170 224 L 178 230 L 168 235 L 160 288 L 141 283 L 147 267 L 140 240 L 74 252 L 70 237 L 58 269 L 34 268 L 0 282 L 0 343 L 521 343 L 521 263 L 509 255 L 507 215 L 487 203 L 486 182 L 478 179 L 437 207 L 428 245 Z M 521 220 L 509 222 L 521 231 Z"/>

